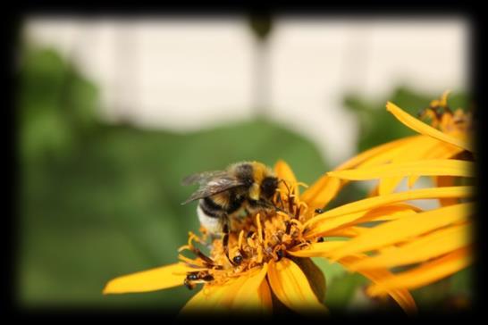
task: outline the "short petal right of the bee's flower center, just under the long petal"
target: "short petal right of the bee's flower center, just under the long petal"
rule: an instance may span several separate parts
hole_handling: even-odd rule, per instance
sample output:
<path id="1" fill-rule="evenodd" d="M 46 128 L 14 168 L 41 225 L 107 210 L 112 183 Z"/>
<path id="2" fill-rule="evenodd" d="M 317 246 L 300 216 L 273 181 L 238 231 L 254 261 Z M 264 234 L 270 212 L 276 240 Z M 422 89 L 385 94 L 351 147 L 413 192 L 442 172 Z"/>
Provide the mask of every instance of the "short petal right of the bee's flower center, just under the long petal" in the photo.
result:
<path id="1" fill-rule="evenodd" d="M 334 229 L 350 227 L 351 225 L 366 221 L 393 220 L 416 213 L 418 210 L 418 208 L 409 204 L 391 204 L 380 206 L 373 210 L 363 210 L 337 217 L 328 217 L 310 226 L 305 237 L 309 239 L 317 236 L 331 236 L 329 232 Z"/>

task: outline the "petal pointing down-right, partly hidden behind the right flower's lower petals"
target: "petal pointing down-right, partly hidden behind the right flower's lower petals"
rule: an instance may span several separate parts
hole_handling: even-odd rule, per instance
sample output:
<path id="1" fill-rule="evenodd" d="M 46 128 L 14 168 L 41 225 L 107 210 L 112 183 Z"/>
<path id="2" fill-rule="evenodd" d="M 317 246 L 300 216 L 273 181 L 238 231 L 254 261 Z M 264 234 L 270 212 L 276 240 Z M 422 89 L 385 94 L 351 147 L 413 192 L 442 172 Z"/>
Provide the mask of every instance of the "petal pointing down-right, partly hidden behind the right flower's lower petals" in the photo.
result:
<path id="1" fill-rule="evenodd" d="M 347 257 L 342 258 L 339 262 L 346 268 L 349 269 L 349 266 L 352 263 L 367 259 L 368 256 L 365 254 L 357 254 L 357 255 L 350 255 Z M 391 272 L 379 268 L 374 270 L 364 270 L 360 271 L 362 275 L 364 275 L 367 279 L 370 279 L 373 282 L 382 281 L 383 279 L 389 279 L 391 277 Z M 390 295 L 400 307 L 408 313 L 415 313 L 416 312 L 416 304 L 414 298 L 410 295 L 407 289 L 404 288 L 393 288 L 391 290 L 386 290 L 388 295 Z"/>

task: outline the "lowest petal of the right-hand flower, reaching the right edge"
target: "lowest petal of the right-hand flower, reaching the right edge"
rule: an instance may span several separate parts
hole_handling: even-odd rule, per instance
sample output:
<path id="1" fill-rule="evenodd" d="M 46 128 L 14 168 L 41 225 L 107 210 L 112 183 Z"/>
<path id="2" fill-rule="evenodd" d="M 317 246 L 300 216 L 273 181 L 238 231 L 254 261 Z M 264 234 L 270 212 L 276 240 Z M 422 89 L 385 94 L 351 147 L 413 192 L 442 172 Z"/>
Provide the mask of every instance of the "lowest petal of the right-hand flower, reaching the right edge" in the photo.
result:
<path id="1" fill-rule="evenodd" d="M 432 262 L 425 262 L 415 269 L 384 278 L 367 289 L 371 296 L 382 295 L 396 288 L 423 287 L 466 268 L 472 262 L 471 247 L 464 247 Z"/>

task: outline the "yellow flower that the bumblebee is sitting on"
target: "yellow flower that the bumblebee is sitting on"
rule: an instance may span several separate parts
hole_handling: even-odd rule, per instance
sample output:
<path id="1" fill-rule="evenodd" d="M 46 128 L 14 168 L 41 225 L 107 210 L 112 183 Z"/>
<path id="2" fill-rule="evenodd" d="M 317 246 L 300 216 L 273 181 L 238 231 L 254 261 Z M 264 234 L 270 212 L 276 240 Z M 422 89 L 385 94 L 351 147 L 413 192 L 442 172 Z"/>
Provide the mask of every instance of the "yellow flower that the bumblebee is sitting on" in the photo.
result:
<path id="1" fill-rule="evenodd" d="M 300 196 L 300 183 L 290 167 L 285 162 L 277 162 L 275 171 L 279 179 L 285 180 L 275 198 L 275 204 L 281 211 L 268 215 L 258 213 L 235 221 L 240 224 L 231 228 L 240 231 L 231 232 L 229 237 L 230 258 L 225 254 L 221 238 L 214 239 L 210 254 L 205 255 L 197 247 L 197 243 L 206 243 L 205 234 L 198 237 L 190 233 L 189 243 L 181 247 L 181 252 L 188 250 L 195 254 L 193 258 L 180 254 L 181 262 L 113 279 L 106 285 L 104 293 L 151 291 L 183 284 L 192 288 L 203 283 L 202 289 L 184 306 L 184 312 L 270 312 L 273 309 L 272 292 L 295 312 L 327 312 L 323 304 L 324 283 L 320 283 L 321 278 L 314 275 L 314 270 L 310 272 L 315 264 L 309 257 L 326 257 L 328 252 L 345 243 L 345 239 L 332 241 L 327 238 L 324 241 L 324 237 L 357 237 L 364 229 L 347 227 L 349 219 L 342 219 L 345 214 L 341 210 L 343 207 L 324 213 L 316 211 L 335 196 L 339 179 L 324 176 Z M 399 197 L 398 201 L 401 200 Z M 376 220 L 384 215 L 394 217 L 411 212 L 408 204 L 383 205 L 369 206 L 374 211 L 373 215 L 361 215 L 361 210 L 356 209 L 352 214 L 346 212 L 347 217 Z M 330 215 L 339 219 L 330 221 Z M 338 262 L 349 267 L 367 258 L 366 254 L 348 254 Z M 386 268 L 361 273 L 374 282 L 391 276 Z M 408 290 L 395 288 L 387 292 L 405 310 L 416 309 Z"/>

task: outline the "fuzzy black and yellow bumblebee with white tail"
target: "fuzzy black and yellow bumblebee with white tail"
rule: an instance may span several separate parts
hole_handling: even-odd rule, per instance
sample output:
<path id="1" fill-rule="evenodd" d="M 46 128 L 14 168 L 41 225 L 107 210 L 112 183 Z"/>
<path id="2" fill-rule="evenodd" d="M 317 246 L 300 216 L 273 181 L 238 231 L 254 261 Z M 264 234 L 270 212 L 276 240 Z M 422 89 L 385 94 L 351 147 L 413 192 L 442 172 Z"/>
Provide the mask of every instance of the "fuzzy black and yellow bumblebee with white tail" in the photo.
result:
<path id="1" fill-rule="evenodd" d="M 237 162 L 224 171 L 204 171 L 183 179 L 199 188 L 182 204 L 199 200 L 198 219 L 210 234 L 228 233 L 231 218 L 273 209 L 279 180 L 261 162 Z"/>

